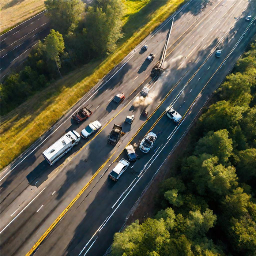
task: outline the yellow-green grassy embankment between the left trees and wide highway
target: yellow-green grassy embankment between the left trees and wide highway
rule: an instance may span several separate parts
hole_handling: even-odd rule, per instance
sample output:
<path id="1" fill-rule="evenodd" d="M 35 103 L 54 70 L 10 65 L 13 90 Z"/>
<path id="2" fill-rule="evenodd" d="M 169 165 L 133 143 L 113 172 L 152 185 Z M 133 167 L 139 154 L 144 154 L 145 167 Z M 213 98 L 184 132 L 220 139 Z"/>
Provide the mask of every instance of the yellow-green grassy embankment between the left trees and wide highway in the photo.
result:
<path id="1" fill-rule="evenodd" d="M 113 54 L 71 72 L 1 118 L 0 169 L 11 163 L 44 134 L 184 1 L 124 0 L 125 36 Z"/>

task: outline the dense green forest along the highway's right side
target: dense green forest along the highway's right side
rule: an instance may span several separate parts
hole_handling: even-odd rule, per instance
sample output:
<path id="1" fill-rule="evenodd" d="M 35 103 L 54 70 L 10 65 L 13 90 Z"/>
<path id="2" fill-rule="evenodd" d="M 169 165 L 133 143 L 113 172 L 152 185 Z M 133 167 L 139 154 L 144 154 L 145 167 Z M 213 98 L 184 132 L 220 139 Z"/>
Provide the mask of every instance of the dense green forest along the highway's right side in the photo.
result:
<path id="1" fill-rule="evenodd" d="M 114 235 L 112 256 L 256 254 L 256 44 L 192 131 L 157 214 Z"/>

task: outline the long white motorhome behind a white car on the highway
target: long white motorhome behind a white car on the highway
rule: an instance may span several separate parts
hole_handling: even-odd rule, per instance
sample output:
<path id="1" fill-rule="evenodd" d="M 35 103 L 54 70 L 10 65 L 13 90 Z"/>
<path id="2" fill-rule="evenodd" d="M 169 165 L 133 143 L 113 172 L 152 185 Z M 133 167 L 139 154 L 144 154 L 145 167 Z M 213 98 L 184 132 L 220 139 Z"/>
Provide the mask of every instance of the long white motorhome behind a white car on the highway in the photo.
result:
<path id="1" fill-rule="evenodd" d="M 74 145 L 77 145 L 81 136 L 76 131 L 69 131 L 63 137 L 61 137 L 57 142 L 42 153 L 46 161 L 53 165 L 58 161 L 63 155 L 68 153 Z"/>

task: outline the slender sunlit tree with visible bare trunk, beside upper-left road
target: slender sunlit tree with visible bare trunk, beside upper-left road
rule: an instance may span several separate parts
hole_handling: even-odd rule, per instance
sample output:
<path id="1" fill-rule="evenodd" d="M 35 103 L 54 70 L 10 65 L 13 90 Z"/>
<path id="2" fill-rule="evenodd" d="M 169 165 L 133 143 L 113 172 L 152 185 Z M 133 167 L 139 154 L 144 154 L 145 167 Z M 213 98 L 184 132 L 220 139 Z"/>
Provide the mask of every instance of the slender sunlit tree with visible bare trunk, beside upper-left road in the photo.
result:
<path id="1" fill-rule="evenodd" d="M 44 43 L 39 41 L 39 47 L 42 48 L 48 59 L 55 62 L 59 74 L 62 77 L 60 73 L 60 55 L 63 54 L 65 49 L 62 35 L 58 31 L 51 29 L 50 34 L 45 38 Z"/>

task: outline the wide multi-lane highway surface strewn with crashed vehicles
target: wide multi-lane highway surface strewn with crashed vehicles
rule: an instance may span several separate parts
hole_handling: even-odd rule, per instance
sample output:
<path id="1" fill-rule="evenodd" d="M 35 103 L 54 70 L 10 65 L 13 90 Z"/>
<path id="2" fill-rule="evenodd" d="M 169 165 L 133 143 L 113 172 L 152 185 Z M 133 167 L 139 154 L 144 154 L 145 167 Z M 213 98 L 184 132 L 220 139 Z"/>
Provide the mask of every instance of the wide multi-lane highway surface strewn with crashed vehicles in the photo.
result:
<path id="1" fill-rule="evenodd" d="M 149 75 L 173 17 L 8 166 L 0 175 L 3 255 L 103 255 L 148 182 L 255 35 L 255 23 L 245 22 L 249 14 L 255 17 L 255 2 L 189 2 L 174 17 L 166 70 L 158 80 L 151 82 Z M 145 43 L 147 52 L 140 50 Z M 222 49 L 219 59 L 214 56 L 217 49 Z M 149 53 L 155 59 L 148 65 L 144 60 Z M 150 87 L 152 95 L 148 118 L 141 116 L 143 106 L 132 106 L 144 86 Z M 120 92 L 126 99 L 117 106 L 112 99 Z M 93 106 L 93 115 L 73 124 L 70 115 L 87 104 Z M 183 116 L 180 123 L 174 124 L 164 114 L 169 105 Z M 135 115 L 131 126 L 124 124 L 128 114 Z M 94 120 L 101 122 L 101 131 L 49 166 L 41 153 L 65 132 L 80 132 Z M 122 124 L 126 132 L 115 147 L 106 143 L 114 123 Z M 118 182 L 109 180 L 108 168 L 126 158 L 125 146 L 138 145 L 151 130 L 158 138 L 150 152 L 143 154 L 137 147 L 139 159 Z"/>

